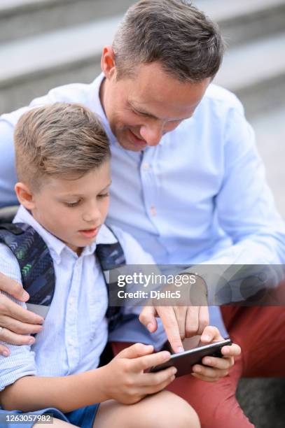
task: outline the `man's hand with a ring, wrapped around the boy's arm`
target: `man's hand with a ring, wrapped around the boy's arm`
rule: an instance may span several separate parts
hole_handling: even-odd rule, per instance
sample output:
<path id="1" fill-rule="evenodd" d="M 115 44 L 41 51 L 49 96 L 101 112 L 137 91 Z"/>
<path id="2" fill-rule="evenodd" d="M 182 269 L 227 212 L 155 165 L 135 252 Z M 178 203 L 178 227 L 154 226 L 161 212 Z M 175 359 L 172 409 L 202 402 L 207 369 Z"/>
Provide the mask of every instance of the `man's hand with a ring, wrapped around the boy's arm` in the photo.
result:
<path id="1" fill-rule="evenodd" d="M 21 284 L 0 273 L 0 341 L 12 345 L 31 345 L 35 339 L 27 335 L 41 331 L 43 318 L 22 308 L 5 294 L 1 294 L 1 291 L 22 302 L 29 299 L 29 294 Z M 8 357 L 8 347 L 0 345 L 0 354 Z"/>

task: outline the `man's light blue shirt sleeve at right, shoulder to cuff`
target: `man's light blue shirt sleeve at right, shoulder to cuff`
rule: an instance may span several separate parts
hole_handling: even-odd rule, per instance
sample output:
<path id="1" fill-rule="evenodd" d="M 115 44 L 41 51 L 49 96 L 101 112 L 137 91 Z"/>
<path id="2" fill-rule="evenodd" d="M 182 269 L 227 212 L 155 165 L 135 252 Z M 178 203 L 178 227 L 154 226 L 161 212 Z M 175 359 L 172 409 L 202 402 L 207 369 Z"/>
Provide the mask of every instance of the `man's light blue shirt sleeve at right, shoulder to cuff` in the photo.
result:
<path id="1" fill-rule="evenodd" d="M 258 276 L 260 269 L 270 286 L 284 278 L 284 221 L 275 207 L 253 129 L 239 101 L 228 111 L 224 144 L 223 183 L 216 196 L 215 215 L 232 245 L 203 262 L 212 265 L 208 273 L 202 264 L 192 268 L 206 280 L 212 304 L 242 300 L 242 280 L 252 272 Z M 255 293 L 254 287 L 251 292 Z M 221 298 L 216 298 L 217 293 Z"/>

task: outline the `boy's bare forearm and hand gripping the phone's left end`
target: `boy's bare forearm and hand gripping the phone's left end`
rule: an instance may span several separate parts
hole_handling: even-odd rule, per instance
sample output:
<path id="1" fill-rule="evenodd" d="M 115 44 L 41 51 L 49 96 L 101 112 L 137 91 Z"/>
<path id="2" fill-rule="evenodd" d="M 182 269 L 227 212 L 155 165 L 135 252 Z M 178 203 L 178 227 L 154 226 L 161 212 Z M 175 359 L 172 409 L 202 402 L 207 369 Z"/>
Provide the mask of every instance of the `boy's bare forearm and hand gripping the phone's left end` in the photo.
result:
<path id="1" fill-rule="evenodd" d="M 108 399 L 133 404 L 174 380 L 174 367 L 159 373 L 144 372 L 169 357 L 167 351 L 153 354 L 153 346 L 135 343 L 99 369 L 56 378 L 20 378 L 0 393 L 1 406 L 22 411 L 55 407 L 67 413 Z"/>

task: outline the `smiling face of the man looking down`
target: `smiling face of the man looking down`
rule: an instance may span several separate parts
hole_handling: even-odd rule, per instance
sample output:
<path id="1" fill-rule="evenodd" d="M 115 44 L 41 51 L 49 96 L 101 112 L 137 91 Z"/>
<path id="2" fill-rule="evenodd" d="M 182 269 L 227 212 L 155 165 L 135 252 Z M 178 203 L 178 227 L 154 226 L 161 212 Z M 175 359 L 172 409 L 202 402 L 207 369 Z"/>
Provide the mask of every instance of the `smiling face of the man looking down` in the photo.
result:
<path id="1" fill-rule="evenodd" d="M 115 69 L 102 83 L 100 95 L 118 143 L 137 152 L 158 145 L 164 134 L 193 115 L 210 78 L 181 83 L 158 62 L 141 64 L 135 71 L 135 77 L 116 81 Z"/>

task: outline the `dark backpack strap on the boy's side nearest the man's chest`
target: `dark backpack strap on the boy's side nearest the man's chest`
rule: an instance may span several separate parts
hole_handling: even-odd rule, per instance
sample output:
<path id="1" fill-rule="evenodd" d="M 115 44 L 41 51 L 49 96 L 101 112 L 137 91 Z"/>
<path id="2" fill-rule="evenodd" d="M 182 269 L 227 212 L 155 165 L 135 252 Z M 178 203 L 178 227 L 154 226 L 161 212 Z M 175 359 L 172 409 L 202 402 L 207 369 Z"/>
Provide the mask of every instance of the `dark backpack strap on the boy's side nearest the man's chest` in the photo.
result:
<path id="1" fill-rule="evenodd" d="M 114 301 L 113 297 L 117 294 L 117 283 L 111 283 L 111 275 L 110 271 L 113 269 L 118 269 L 121 266 L 125 266 L 125 255 L 123 252 L 123 248 L 121 247 L 118 238 L 113 233 L 113 231 L 109 228 L 113 236 L 117 239 L 116 243 L 112 244 L 98 244 L 96 246 L 95 255 L 98 257 L 99 264 L 101 266 L 102 272 L 104 274 L 104 279 L 108 291 L 108 298 L 110 302 L 110 297 L 112 296 L 112 301 Z M 117 301 L 118 299 L 116 299 Z M 119 305 L 119 303 L 118 303 Z M 110 306 L 106 311 L 106 318 L 109 320 L 109 331 L 112 331 L 116 325 L 123 318 L 123 308 L 120 306 Z"/>

